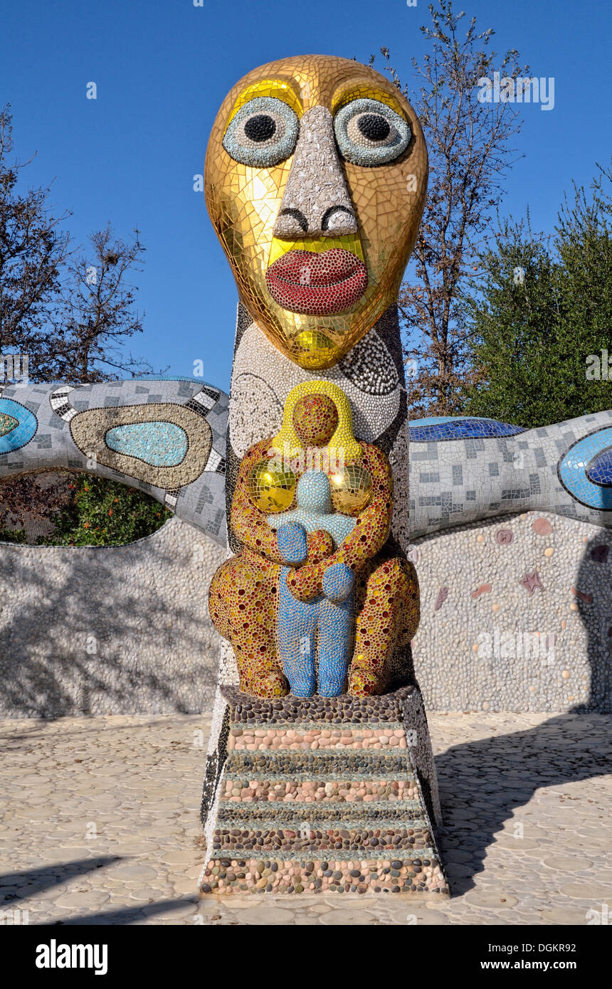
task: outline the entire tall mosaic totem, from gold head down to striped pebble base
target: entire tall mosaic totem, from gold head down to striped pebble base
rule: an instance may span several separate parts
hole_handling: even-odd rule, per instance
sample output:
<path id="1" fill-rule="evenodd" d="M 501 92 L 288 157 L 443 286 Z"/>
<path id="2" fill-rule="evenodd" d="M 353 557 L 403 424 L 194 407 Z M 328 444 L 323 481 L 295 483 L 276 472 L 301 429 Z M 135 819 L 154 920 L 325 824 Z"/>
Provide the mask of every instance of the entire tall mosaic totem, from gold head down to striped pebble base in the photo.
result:
<path id="1" fill-rule="evenodd" d="M 395 305 L 426 183 L 412 108 L 389 80 L 350 60 L 312 55 L 253 70 L 226 97 L 211 135 L 207 205 L 240 302 L 226 479 L 234 555 L 211 592 L 226 641 L 204 785 L 204 892 L 448 892 L 432 831 L 440 822 L 435 770 L 406 639 L 418 588 L 405 556 L 408 429 Z M 338 691 L 321 676 L 318 687 L 296 686 L 279 644 L 279 587 L 298 574 L 283 568 L 292 558 L 282 512 L 304 521 L 300 491 L 312 497 L 321 471 L 300 481 L 297 500 L 291 483 L 284 489 L 274 470 L 266 474 L 266 458 L 271 465 L 275 451 L 287 451 L 282 437 L 299 436 L 310 453 L 333 445 L 335 425 L 321 432 L 316 397 L 344 415 L 346 477 L 367 477 L 367 467 L 376 475 L 375 462 L 381 477 L 389 474 L 379 488 L 375 479 L 365 508 L 329 501 L 336 515 L 319 527 L 332 534 L 333 550 L 322 555 L 343 561 L 356 588 L 343 645 L 351 654 L 354 644 L 354 655 Z M 293 482 L 304 471 L 293 461 L 288 468 Z M 333 494 L 332 474 L 322 484 Z M 278 523 L 265 512 L 270 495 Z M 360 541 L 387 509 L 384 545 L 371 540 L 366 569 Z M 310 538 L 304 567 L 320 577 Z M 310 597 L 303 587 L 305 606 L 319 598 L 320 580 Z M 393 622 L 385 624 L 387 615 Z M 364 659 L 376 621 L 383 645 Z"/>

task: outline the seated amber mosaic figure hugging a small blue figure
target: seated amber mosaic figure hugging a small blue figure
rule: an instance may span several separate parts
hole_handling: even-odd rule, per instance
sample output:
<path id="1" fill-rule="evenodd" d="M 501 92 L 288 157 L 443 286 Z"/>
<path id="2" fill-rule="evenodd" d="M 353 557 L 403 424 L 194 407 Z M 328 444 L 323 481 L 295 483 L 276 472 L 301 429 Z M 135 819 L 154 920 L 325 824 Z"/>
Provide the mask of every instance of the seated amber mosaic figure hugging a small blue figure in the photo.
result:
<path id="1" fill-rule="evenodd" d="M 318 469 L 306 470 L 313 462 Z M 281 696 L 284 671 L 294 694 L 310 696 L 318 661 L 319 694 L 342 692 L 354 603 L 348 692 L 381 693 L 393 678 L 396 649 L 418 623 L 418 590 L 412 566 L 385 552 L 392 487 L 385 455 L 353 436 L 342 391 L 324 381 L 296 386 L 281 431 L 242 459 L 230 513 L 242 551 L 211 585 L 211 616 L 231 642 L 242 690 Z M 298 507 L 287 510 L 294 493 Z M 279 498 L 284 510 L 266 515 Z M 271 620 L 260 620 L 264 611 Z"/>

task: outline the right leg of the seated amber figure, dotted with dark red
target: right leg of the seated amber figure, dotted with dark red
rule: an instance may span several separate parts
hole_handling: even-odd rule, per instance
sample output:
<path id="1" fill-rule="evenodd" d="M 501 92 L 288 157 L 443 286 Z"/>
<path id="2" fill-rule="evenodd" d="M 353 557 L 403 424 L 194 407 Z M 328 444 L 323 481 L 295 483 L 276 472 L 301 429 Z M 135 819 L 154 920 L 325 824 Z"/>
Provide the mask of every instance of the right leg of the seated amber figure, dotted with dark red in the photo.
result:
<path id="1" fill-rule="evenodd" d="M 366 696 L 385 689 L 393 649 L 410 641 L 418 616 L 418 584 L 413 566 L 400 558 L 373 562 L 358 586 L 349 693 Z"/>

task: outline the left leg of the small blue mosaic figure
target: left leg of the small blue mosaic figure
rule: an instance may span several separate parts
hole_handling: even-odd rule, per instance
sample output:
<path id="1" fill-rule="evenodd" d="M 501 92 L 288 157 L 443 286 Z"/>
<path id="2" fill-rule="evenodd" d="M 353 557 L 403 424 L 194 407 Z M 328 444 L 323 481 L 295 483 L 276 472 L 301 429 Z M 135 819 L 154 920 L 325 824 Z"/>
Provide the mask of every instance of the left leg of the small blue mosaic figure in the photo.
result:
<path id="1" fill-rule="evenodd" d="M 287 586 L 289 568 L 284 567 L 279 582 L 278 650 L 283 670 L 296 697 L 311 697 L 316 689 L 314 636 L 316 605 L 299 601 Z"/>

